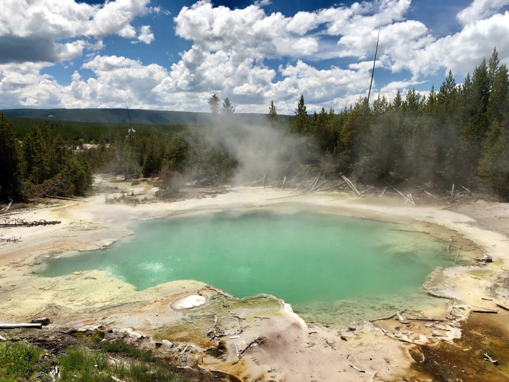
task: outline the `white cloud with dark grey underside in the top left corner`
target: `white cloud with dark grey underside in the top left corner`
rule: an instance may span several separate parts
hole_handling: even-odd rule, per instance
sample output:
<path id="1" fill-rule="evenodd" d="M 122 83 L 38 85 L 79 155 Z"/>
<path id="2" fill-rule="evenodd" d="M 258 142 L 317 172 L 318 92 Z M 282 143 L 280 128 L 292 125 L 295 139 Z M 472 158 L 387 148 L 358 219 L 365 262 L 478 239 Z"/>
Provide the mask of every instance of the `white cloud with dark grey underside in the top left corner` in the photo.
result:
<path id="1" fill-rule="evenodd" d="M 149 12 L 149 2 L 115 0 L 103 5 L 74 0 L 4 2 L 0 12 L 0 63 L 71 60 L 84 50 L 101 48 L 101 39 L 111 34 L 150 43 L 154 39 L 150 27 L 142 26 L 137 36 L 131 25 L 135 17 Z"/>

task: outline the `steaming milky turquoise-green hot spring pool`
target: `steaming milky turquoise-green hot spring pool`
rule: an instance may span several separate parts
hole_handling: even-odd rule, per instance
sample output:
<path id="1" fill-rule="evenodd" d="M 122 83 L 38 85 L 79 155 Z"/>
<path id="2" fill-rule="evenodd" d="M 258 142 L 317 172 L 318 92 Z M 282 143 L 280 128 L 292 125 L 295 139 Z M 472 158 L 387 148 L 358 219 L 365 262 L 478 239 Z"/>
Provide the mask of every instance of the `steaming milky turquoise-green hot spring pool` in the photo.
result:
<path id="1" fill-rule="evenodd" d="M 129 228 L 135 234 L 114 247 L 48 260 L 41 275 L 100 269 L 138 290 L 197 280 L 235 297 L 282 298 L 308 322 L 345 324 L 445 306 L 422 284 L 455 261 L 443 242 L 405 226 L 309 211 L 177 216 Z"/>

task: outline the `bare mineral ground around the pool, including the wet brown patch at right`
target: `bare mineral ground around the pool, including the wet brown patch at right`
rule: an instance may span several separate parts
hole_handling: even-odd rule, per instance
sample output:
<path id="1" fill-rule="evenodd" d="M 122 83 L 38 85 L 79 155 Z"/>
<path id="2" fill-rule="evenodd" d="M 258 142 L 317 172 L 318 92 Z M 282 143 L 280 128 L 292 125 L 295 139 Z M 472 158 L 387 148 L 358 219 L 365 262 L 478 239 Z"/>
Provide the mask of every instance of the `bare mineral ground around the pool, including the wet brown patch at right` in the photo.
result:
<path id="1" fill-rule="evenodd" d="M 243 381 L 509 381 L 509 315 L 495 306 L 509 306 L 507 204 L 464 196 L 454 206 L 432 198 L 416 200 L 413 206 L 388 193 L 383 198 L 348 192 L 295 195 L 279 187 L 242 186 L 188 187 L 175 200 L 159 201 L 150 180 L 131 184 L 97 178 L 95 187 L 98 194 L 80 202 L 46 199 L 0 216 L 61 222 L 0 228 L 4 238 L 21 239 L 0 243 L 0 322 L 46 316 L 52 323 L 41 331 L 45 335 L 105 331 L 108 340 L 121 338 L 179 366 L 202 367 L 231 380 L 234 375 Z M 423 308 L 419 316 L 407 314 L 413 318 L 409 324 L 391 318 L 344 328 L 306 324 L 272 296 L 238 300 L 200 282 L 175 281 L 136 291 L 99 270 L 55 278 L 37 275 L 49 257 L 86 256 L 83 251 L 113 245 L 132 234 L 126 225 L 135 220 L 254 208 L 311 208 L 400 222 L 445 243 L 452 239 L 472 261 L 439 268 L 427 283 L 430 293 L 447 298 L 446 311 Z M 483 254 L 494 261 L 479 265 L 473 260 Z M 176 304 L 185 297 L 199 301 L 199 296 L 205 303 L 194 308 Z M 472 312 L 490 309 L 498 312 Z M 207 335 L 211 328 L 228 334 L 219 342 Z M 163 339 L 175 346 L 158 346 Z M 485 361 L 484 353 L 499 364 Z"/>

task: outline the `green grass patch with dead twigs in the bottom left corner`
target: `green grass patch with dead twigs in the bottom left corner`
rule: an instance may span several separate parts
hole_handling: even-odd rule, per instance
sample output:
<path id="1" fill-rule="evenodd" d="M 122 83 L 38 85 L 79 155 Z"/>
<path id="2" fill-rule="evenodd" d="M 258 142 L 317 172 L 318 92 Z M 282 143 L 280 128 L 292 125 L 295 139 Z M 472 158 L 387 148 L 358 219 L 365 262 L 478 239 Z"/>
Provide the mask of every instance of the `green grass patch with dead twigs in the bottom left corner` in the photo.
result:
<path id="1" fill-rule="evenodd" d="M 68 346 L 60 354 L 26 341 L 0 343 L 0 382 L 51 381 L 49 372 L 55 366 L 60 370 L 59 382 L 111 382 L 111 376 L 126 382 L 195 382 L 174 365 L 124 342 L 88 341 Z"/>

